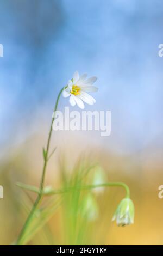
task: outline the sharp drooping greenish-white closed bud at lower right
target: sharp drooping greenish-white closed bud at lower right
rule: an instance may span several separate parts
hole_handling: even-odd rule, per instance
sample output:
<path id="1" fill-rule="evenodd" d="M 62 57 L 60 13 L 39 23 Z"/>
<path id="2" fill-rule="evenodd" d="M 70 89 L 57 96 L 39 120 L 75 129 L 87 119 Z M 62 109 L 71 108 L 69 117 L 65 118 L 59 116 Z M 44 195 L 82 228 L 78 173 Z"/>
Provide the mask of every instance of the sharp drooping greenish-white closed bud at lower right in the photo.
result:
<path id="1" fill-rule="evenodd" d="M 117 207 L 112 221 L 116 220 L 118 226 L 134 223 L 134 204 L 130 198 L 124 198 Z"/>

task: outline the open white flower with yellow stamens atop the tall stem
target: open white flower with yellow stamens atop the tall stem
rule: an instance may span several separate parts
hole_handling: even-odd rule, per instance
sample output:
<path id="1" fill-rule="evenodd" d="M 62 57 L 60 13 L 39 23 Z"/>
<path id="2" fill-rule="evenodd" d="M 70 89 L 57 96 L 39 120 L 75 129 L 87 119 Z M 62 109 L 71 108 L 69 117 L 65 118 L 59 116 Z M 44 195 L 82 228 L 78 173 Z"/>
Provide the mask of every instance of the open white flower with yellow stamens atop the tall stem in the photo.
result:
<path id="1" fill-rule="evenodd" d="M 97 77 L 92 76 L 89 79 L 86 79 L 87 74 L 79 76 L 78 71 L 74 72 L 72 80 L 68 81 L 67 86 L 65 87 L 62 95 L 64 97 L 70 96 L 70 104 L 71 106 L 75 106 L 76 104 L 80 108 L 84 108 L 84 103 L 89 105 L 93 105 L 96 100 L 87 92 L 96 92 L 98 90 L 97 87 L 92 86 L 93 83 L 96 82 Z"/>

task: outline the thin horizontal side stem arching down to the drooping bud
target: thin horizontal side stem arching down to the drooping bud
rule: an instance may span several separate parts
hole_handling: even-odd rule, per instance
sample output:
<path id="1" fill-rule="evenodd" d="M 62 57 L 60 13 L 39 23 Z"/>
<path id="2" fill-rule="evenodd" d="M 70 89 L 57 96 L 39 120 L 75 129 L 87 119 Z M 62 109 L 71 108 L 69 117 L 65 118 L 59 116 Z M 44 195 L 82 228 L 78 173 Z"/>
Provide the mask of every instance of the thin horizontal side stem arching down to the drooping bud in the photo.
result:
<path id="1" fill-rule="evenodd" d="M 92 190 L 93 188 L 97 187 L 123 187 L 126 190 L 126 198 L 130 197 L 130 190 L 129 187 L 124 184 L 123 182 L 109 182 L 109 183 L 102 183 L 97 185 L 85 185 L 80 187 L 68 187 L 65 190 L 53 190 L 45 193 L 45 196 L 51 196 L 53 194 L 61 194 L 66 192 L 71 192 L 73 190 Z"/>

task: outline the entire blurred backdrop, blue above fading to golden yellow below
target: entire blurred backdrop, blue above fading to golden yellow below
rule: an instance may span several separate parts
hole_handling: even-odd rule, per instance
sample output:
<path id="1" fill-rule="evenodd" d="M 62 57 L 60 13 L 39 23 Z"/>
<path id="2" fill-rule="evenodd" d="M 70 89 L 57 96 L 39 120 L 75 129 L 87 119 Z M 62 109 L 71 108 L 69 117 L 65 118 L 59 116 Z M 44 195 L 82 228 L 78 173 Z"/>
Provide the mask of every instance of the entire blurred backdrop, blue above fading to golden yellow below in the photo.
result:
<path id="1" fill-rule="evenodd" d="M 111 111 L 111 135 L 55 132 L 52 148 L 57 145 L 57 150 L 46 183 L 59 188 L 60 164 L 66 162 L 71 173 L 84 154 L 105 170 L 108 181 L 126 182 L 135 203 L 135 224 L 116 227 L 111 216 L 123 191 L 104 192 L 85 243 L 163 243 L 163 199 L 158 198 L 163 184 L 162 22 L 161 0 L 1 0 L 1 245 L 15 240 L 22 227 L 24 192 L 15 183 L 39 185 L 55 100 L 76 70 L 98 77 L 96 104 L 86 110 Z M 59 109 L 68 104 L 61 98 Z M 49 221 L 54 234 L 64 232 L 60 216 L 58 210 Z M 46 242 L 37 236 L 31 243 Z"/>

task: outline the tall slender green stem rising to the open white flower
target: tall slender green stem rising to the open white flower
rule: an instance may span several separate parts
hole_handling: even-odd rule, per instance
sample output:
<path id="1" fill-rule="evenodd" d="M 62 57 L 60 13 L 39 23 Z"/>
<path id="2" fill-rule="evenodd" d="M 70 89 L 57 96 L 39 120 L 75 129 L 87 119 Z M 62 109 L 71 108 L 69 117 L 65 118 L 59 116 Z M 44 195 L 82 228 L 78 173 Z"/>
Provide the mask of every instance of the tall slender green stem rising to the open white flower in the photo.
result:
<path id="1" fill-rule="evenodd" d="M 60 90 L 59 94 L 58 94 L 57 101 L 56 101 L 55 107 L 54 107 L 54 112 L 57 111 L 60 95 L 61 95 L 61 93 L 62 93 L 62 91 L 64 89 L 65 89 L 65 87 L 62 88 Z M 20 234 L 18 235 L 17 242 L 16 242 L 17 245 L 21 245 L 22 237 L 26 233 L 26 231 L 27 231 L 27 229 L 29 227 L 30 221 L 32 221 L 32 218 L 34 216 L 35 210 L 37 209 L 37 206 L 41 203 L 41 199 L 43 197 L 43 186 L 44 186 L 44 183 L 45 183 L 45 174 L 46 174 L 46 167 L 47 167 L 47 162 L 48 162 L 48 152 L 49 152 L 49 145 L 50 145 L 51 137 L 52 137 L 52 130 L 53 130 L 53 121 L 54 121 L 54 119 L 55 119 L 55 116 L 53 114 L 52 123 L 51 123 L 51 127 L 50 127 L 50 130 L 49 130 L 49 135 L 48 135 L 47 147 L 46 147 L 46 157 L 44 158 L 42 177 L 41 177 L 41 181 L 40 181 L 40 193 L 38 194 L 38 196 L 37 196 L 37 198 L 35 200 L 35 203 L 33 205 L 33 208 L 30 211 L 30 213 L 29 213 L 29 215 L 27 217 L 27 220 L 24 223 L 23 228 L 22 228 Z"/>

